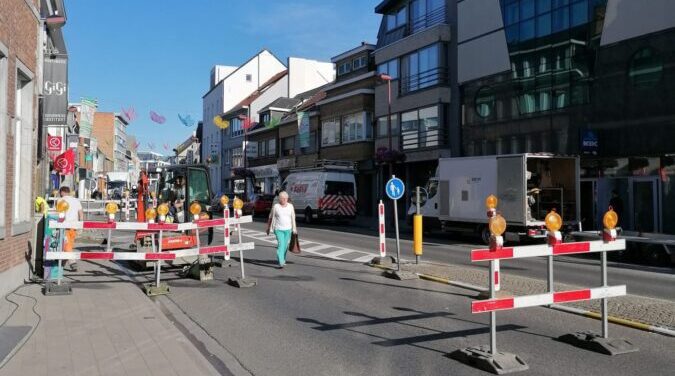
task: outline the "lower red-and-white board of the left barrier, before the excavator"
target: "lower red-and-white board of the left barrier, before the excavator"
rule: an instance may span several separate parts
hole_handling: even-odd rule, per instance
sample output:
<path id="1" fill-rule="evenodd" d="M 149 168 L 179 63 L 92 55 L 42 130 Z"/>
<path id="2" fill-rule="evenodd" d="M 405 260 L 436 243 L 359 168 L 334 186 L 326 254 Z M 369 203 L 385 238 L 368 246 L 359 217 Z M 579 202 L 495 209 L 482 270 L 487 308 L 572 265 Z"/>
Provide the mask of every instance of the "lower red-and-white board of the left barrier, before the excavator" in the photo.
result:
<path id="1" fill-rule="evenodd" d="M 190 257 L 199 255 L 213 255 L 225 252 L 241 252 L 254 249 L 255 244 L 239 243 L 231 244 L 229 246 L 217 245 L 201 248 L 181 249 L 177 251 L 166 252 L 46 252 L 46 260 L 115 260 L 115 261 L 158 261 L 158 260 L 175 260 L 180 257 Z"/>

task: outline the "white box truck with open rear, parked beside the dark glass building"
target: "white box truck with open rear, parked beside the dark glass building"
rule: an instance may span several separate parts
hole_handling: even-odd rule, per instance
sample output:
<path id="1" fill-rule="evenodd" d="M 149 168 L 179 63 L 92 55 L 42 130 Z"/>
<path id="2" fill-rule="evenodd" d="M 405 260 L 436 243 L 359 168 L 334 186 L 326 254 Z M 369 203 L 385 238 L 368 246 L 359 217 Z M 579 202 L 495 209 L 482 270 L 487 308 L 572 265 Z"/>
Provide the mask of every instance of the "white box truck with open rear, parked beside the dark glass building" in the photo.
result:
<path id="1" fill-rule="evenodd" d="M 579 158 L 548 153 L 441 158 L 420 198 L 424 223 L 469 232 L 489 242 L 485 199 L 499 199 L 507 241 L 546 237 L 544 218 L 555 210 L 571 232 L 580 219 Z M 408 215 L 416 212 L 415 199 Z"/>

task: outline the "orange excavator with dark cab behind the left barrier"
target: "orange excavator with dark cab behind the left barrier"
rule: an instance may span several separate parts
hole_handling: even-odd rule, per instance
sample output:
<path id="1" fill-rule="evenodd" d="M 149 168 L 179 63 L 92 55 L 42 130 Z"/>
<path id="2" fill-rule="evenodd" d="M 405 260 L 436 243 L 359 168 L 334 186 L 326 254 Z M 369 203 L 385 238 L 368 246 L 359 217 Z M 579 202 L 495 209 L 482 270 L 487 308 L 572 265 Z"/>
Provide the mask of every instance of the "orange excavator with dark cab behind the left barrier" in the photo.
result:
<path id="1" fill-rule="evenodd" d="M 150 190 L 150 175 L 157 178 L 155 190 Z M 211 212 L 211 182 L 209 170 L 201 164 L 177 164 L 157 168 L 153 171 L 141 171 L 138 180 L 138 221 L 145 222 L 146 210 L 157 208 L 166 203 L 170 211 L 167 220 L 173 223 L 183 223 L 191 220 L 189 206 L 198 202 L 202 207 L 202 219 L 213 218 Z M 155 235 L 153 237 L 153 235 Z M 199 242 L 197 239 L 199 236 Z M 196 231 L 173 232 L 164 231 L 162 236 L 162 251 L 194 248 L 198 244 L 207 245 L 213 241 L 213 228 L 203 233 Z M 154 244 L 153 244 L 154 242 Z M 158 246 L 159 237 L 156 231 L 138 231 L 135 237 L 137 252 L 152 252 L 153 245 Z M 194 260 L 179 260 L 174 266 L 190 264 Z M 147 266 L 151 265 L 148 263 Z"/>

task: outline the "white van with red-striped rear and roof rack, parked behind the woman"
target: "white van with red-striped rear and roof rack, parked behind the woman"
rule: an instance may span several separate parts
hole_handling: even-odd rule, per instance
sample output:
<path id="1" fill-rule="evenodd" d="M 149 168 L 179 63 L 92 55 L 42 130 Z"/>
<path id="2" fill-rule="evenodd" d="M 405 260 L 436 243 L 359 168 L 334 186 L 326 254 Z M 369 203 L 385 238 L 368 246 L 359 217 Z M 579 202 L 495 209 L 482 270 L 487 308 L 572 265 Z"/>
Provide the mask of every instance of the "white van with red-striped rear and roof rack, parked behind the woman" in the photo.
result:
<path id="1" fill-rule="evenodd" d="M 356 178 L 348 168 L 320 167 L 292 171 L 281 185 L 298 217 L 316 219 L 356 217 Z"/>

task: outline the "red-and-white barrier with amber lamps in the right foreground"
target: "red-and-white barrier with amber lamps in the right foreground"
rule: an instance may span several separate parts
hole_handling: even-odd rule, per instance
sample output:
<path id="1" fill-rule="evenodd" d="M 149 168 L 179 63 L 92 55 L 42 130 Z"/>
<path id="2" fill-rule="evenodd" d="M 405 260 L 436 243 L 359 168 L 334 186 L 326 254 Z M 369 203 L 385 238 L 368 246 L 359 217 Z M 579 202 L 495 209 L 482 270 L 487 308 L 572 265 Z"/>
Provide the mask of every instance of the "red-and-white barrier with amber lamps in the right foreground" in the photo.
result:
<path id="1" fill-rule="evenodd" d="M 626 286 L 607 285 L 607 252 L 623 250 L 626 247 L 624 239 L 617 239 L 614 229 L 618 217 L 610 208 L 605 214 L 603 223 L 605 232 L 603 240 L 564 243 L 560 228 L 562 218 L 550 212 L 546 216 L 547 243 L 531 246 L 505 247 L 502 234 L 506 230 L 506 221 L 496 211 L 497 198 L 494 196 L 486 200 L 488 207 L 489 227 L 491 232 L 488 249 L 474 249 L 471 251 L 472 262 L 490 262 L 489 272 L 489 299 L 477 300 L 471 303 L 472 313 L 490 313 L 490 345 L 473 346 L 457 350 L 450 356 L 463 363 L 469 364 L 484 371 L 496 374 L 505 374 L 528 369 L 528 365 L 517 355 L 499 352 L 497 350 L 496 312 L 527 307 L 550 306 L 559 303 L 578 302 L 601 299 L 601 334 L 593 332 L 576 332 L 565 334 L 557 338 L 558 341 L 587 350 L 618 355 L 638 351 L 638 348 L 625 339 L 609 338 L 607 299 L 626 295 Z M 600 279 L 602 285 L 579 290 L 554 291 L 553 285 L 553 257 L 559 255 L 573 255 L 597 252 L 600 253 Z M 496 297 L 500 282 L 499 262 L 501 260 L 547 257 L 548 258 L 548 292 L 545 294 Z"/>

